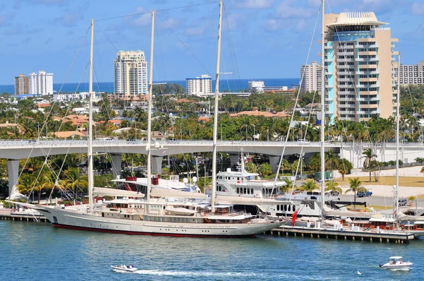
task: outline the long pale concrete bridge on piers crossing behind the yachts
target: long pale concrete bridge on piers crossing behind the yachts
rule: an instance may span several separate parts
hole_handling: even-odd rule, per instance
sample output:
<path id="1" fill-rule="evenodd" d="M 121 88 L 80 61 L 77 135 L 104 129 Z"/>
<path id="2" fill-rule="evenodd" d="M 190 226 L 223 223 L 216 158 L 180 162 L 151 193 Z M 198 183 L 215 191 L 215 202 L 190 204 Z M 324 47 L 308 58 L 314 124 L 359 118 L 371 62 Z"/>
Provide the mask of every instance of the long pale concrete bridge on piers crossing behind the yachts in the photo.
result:
<path id="1" fill-rule="evenodd" d="M 109 153 L 112 158 L 112 173 L 114 177 L 121 172 L 123 153 L 147 154 L 146 141 L 143 140 L 94 140 L 94 153 Z M 160 173 L 164 156 L 181 153 L 211 152 L 211 140 L 165 140 L 157 141 L 163 148 L 152 151 L 153 172 Z M 267 141 L 218 141 L 218 152 L 230 154 L 231 164 L 235 164 L 240 157 L 241 148 L 245 153 L 269 155 L 273 172 L 276 172 L 278 161 L 283 152 L 284 142 Z M 299 154 L 303 148 L 305 163 L 307 164 L 313 153 L 319 153 L 319 142 L 288 142 L 285 146 L 285 155 Z M 363 150 L 372 148 L 377 160 L 388 162 L 396 160 L 396 144 L 384 143 L 326 143 L 326 151 L 334 150 L 341 157 L 353 163 L 354 168 L 363 167 Z M 87 140 L 2 140 L 0 141 L 0 158 L 7 159 L 9 191 L 16 183 L 19 174 L 19 160 L 29 157 L 46 155 L 63 155 L 67 153 L 87 153 Z M 400 145 L 399 157 L 403 162 L 414 162 L 416 157 L 424 157 L 423 143 L 408 143 Z M 116 167 L 116 168 L 114 168 Z"/>

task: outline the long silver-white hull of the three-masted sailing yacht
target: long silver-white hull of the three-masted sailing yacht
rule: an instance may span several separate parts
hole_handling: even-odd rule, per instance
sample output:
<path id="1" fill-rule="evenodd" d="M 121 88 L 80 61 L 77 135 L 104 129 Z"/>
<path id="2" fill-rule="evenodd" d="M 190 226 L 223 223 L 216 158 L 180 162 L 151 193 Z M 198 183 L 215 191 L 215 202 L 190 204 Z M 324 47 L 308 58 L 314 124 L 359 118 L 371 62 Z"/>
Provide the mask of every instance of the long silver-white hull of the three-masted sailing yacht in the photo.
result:
<path id="1" fill-rule="evenodd" d="M 37 207 L 36 209 L 45 215 L 47 220 L 52 222 L 54 227 L 119 234 L 171 237 L 255 237 L 257 234 L 263 234 L 264 232 L 281 226 L 283 223 L 218 224 L 123 220 L 97 215 L 72 213 L 68 210 L 43 208 L 42 206 Z"/>

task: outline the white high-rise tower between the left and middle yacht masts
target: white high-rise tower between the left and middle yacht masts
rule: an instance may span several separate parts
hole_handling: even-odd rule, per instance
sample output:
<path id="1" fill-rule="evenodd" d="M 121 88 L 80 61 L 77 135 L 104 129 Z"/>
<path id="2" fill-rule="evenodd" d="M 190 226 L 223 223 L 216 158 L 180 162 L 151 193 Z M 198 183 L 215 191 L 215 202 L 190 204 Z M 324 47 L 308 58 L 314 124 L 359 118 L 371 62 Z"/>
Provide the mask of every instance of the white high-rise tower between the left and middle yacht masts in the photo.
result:
<path id="1" fill-rule="evenodd" d="M 147 61 L 143 51 L 119 51 L 113 61 L 114 94 L 148 100 Z"/>

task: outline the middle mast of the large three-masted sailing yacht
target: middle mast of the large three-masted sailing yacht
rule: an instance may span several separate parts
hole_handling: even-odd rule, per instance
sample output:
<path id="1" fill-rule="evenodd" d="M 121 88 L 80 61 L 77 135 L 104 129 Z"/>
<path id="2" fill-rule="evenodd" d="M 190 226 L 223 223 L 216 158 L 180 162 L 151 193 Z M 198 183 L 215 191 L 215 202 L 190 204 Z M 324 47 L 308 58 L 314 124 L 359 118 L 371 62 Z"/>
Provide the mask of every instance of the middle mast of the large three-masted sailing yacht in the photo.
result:
<path id="1" fill-rule="evenodd" d="M 147 200 L 150 199 L 150 193 L 152 188 L 152 150 L 151 150 L 151 140 L 152 140 L 152 88 L 153 88 L 153 43 L 154 43 L 154 37 L 155 37 L 155 11 L 152 11 L 152 31 L 151 31 L 151 55 L 150 55 L 150 68 L 148 73 L 148 125 L 147 125 L 147 191 L 146 191 L 146 198 Z M 147 205 L 148 208 L 148 205 Z"/>

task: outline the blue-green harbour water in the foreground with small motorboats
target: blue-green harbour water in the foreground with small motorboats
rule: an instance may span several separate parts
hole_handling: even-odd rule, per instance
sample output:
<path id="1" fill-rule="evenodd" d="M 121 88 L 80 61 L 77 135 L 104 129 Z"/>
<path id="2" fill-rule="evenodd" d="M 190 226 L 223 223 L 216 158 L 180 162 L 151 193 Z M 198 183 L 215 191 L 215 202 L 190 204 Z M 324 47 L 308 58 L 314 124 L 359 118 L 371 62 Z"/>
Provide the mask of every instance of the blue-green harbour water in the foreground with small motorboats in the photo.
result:
<path id="1" fill-rule="evenodd" d="M 300 237 L 131 236 L 0 220 L 6 280 L 423 280 L 424 241 L 370 243 Z M 389 256 L 410 271 L 379 268 Z M 135 273 L 110 265 L 134 264 Z M 358 274 L 358 271 L 361 275 Z"/>

